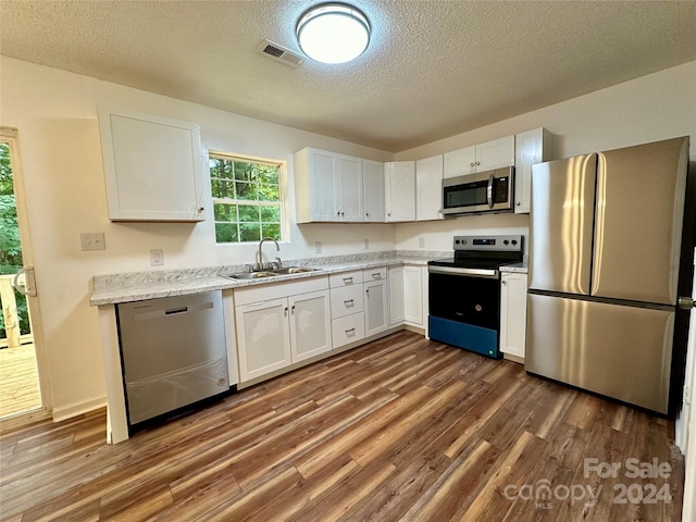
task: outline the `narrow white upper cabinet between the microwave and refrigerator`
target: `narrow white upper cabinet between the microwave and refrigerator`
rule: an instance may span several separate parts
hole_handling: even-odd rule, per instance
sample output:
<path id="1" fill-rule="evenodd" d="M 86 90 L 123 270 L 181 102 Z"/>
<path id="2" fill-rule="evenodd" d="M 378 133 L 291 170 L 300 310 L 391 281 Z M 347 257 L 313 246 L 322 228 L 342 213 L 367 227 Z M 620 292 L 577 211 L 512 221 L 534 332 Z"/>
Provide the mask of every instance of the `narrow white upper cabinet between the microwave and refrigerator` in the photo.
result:
<path id="1" fill-rule="evenodd" d="M 535 128 L 514 136 L 514 213 L 530 212 L 532 165 L 551 159 L 552 135 Z"/>

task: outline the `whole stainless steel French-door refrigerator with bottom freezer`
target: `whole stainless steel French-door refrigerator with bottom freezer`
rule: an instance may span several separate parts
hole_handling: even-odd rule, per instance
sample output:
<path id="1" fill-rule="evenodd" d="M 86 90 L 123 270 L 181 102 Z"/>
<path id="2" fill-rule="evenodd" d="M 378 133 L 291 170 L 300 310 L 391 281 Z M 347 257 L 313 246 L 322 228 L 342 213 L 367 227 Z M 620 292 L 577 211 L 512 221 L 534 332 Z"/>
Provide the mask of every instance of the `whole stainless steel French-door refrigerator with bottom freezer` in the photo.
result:
<path id="1" fill-rule="evenodd" d="M 668 413 L 687 170 L 688 137 L 532 167 L 527 372 Z"/>

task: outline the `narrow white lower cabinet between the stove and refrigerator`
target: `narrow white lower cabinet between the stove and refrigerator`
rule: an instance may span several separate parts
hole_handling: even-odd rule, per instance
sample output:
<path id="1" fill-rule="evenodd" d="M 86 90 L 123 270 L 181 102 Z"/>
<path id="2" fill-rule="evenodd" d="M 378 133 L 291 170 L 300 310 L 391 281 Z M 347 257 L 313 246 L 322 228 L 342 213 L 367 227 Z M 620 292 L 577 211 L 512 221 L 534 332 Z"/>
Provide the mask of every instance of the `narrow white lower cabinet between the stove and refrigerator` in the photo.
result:
<path id="1" fill-rule="evenodd" d="M 524 359 L 527 274 L 504 273 L 500 281 L 500 351 Z"/>

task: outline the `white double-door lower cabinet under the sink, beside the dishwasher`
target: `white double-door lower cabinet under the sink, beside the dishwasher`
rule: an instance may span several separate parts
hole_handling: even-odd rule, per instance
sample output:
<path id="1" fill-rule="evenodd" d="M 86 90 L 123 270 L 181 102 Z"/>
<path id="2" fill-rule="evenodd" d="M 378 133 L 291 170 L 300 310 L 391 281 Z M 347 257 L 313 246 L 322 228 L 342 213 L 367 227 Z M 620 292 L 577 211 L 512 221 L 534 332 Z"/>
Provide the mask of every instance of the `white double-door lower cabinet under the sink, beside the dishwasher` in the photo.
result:
<path id="1" fill-rule="evenodd" d="M 239 381 L 332 349 L 327 278 L 235 290 Z"/>

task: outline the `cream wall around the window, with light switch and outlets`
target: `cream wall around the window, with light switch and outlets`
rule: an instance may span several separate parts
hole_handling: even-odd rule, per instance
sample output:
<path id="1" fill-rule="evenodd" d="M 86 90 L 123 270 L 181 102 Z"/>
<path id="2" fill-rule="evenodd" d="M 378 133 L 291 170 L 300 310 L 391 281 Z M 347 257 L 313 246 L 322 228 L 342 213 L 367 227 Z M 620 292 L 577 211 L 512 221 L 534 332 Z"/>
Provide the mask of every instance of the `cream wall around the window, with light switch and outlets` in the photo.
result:
<path id="1" fill-rule="evenodd" d="M 215 245 L 212 220 L 199 224 L 109 222 L 98 103 L 198 123 L 209 148 L 286 161 L 290 202 L 293 153 L 303 147 L 378 161 L 391 157 L 4 57 L 0 70 L 0 124 L 20 133 L 44 338 L 59 417 L 92 407 L 105 394 L 97 309 L 89 307 L 92 275 L 150 270 L 151 248 L 163 249 L 162 270 L 254 260 L 254 245 Z M 294 220 L 294 204 L 288 210 Z M 80 251 L 80 232 L 104 232 L 107 250 Z M 290 243 L 282 245 L 279 254 L 284 259 L 313 257 L 316 240 L 322 241 L 322 256 L 363 251 L 364 238 L 371 251 L 393 250 L 394 225 L 293 223 Z"/>

